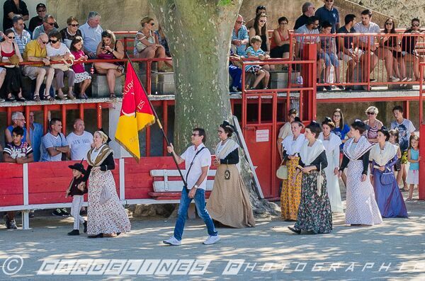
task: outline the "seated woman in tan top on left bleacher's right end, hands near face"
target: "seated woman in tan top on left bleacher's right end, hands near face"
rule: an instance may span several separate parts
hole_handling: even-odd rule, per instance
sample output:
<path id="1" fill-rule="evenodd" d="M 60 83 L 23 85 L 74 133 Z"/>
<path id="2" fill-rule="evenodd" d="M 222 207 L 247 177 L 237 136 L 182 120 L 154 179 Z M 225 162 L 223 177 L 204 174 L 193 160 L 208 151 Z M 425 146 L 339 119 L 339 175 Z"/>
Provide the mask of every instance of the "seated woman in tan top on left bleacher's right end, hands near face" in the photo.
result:
<path id="1" fill-rule="evenodd" d="M 123 59 L 123 43 L 115 39 L 115 35 L 111 30 L 105 30 L 102 33 L 102 39 L 98 44 L 96 54 L 98 59 Z M 99 74 L 106 74 L 109 97 L 116 98 L 114 93 L 115 79 L 124 74 L 124 67 L 119 62 L 95 62 L 94 67 Z"/>

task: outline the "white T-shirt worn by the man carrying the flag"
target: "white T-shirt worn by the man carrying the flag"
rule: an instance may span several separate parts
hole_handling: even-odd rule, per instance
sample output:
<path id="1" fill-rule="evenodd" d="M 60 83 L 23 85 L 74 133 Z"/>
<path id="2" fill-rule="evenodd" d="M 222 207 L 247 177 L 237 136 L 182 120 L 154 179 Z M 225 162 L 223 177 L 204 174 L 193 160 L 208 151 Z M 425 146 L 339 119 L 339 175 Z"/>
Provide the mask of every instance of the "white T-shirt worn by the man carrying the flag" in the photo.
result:
<path id="1" fill-rule="evenodd" d="M 195 150 L 195 146 L 188 147 L 186 151 L 184 151 L 183 154 L 181 154 L 181 158 L 184 159 L 184 163 L 186 166 L 186 173 L 188 172 L 189 167 L 191 166 L 193 157 L 195 157 L 196 152 L 199 151 L 199 149 L 205 147 L 204 144 L 200 144 L 198 146 L 198 149 Z M 211 154 L 208 148 L 205 147 L 200 153 L 196 156 L 195 160 L 193 161 L 193 165 L 191 168 L 191 171 L 188 175 L 185 175 L 185 179 L 187 178 L 188 183 L 188 189 L 191 190 L 193 188 L 193 185 L 196 184 L 198 181 L 200 174 L 202 173 L 202 167 L 208 166 L 208 171 L 210 171 L 211 166 Z M 207 173 L 208 173 L 207 171 Z M 198 186 L 198 188 L 201 188 L 205 190 L 207 188 L 207 178 L 203 180 L 203 182 Z"/>

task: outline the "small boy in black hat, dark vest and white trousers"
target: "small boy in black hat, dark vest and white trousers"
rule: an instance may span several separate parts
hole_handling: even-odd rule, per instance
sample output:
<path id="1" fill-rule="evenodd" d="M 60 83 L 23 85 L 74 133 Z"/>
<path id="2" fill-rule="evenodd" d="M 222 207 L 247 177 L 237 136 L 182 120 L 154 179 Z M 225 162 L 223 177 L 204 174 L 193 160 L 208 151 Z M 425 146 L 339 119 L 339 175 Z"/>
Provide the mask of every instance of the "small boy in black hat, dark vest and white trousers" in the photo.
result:
<path id="1" fill-rule="evenodd" d="M 84 194 L 87 193 L 86 183 L 84 181 L 84 166 L 81 163 L 76 163 L 74 165 L 68 166 L 72 168 L 72 180 L 69 184 L 69 188 L 67 190 L 67 194 L 65 198 L 68 196 L 72 196 L 72 207 L 71 207 L 71 215 L 74 217 L 74 229 L 68 233 L 68 235 L 74 236 L 79 235 L 79 225 L 82 224 L 84 226 L 84 233 L 87 232 L 87 221 L 84 220 L 84 217 L 81 217 L 79 211 L 84 203 Z"/>

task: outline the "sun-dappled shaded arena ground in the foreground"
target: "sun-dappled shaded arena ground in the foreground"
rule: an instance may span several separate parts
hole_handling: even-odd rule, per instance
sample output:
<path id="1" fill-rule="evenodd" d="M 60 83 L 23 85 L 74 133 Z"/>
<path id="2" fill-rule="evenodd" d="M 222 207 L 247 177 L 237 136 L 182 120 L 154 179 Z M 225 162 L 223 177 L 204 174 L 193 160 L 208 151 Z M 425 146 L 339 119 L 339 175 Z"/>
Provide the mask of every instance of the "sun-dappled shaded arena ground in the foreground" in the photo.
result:
<path id="1" fill-rule="evenodd" d="M 10 276 L 4 270 L 18 264 L 9 259 L 10 265 L 0 270 L 0 280 L 425 280 L 425 202 L 407 202 L 407 208 L 409 219 L 385 219 L 384 224 L 368 227 L 346 226 L 344 215 L 336 214 L 334 231 L 323 235 L 297 236 L 287 229 L 290 222 L 261 220 L 251 229 L 219 229 L 222 240 L 212 246 L 202 244 L 206 229 L 200 219 L 194 219 L 186 224 L 179 247 L 162 244 L 162 239 L 172 235 L 174 220 L 132 219 L 128 234 L 86 239 L 85 234 L 66 235 L 72 229 L 72 218 L 36 216 L 28 231 L 6 231 L 0 226 L 0 266 L 13 255 L 23 258 L 21 270 Z M 149 259 L 143 265 L 151 267 L 144 272 L 153 270 L 153 274 L 92 275 L 97 272 L 92 270 L 90 276 L 37 275 L 43 261 L 74 258 L 96 259 L 98 264 L 100 259 L 124 260 L 124 268 L 130 265 L 127 259 Z M 152 259 L 159 260 L 158 267 Z M 202 277 L 166 275 L 167 269 L 170 273 L 176 270 L 171 259 L 210 263 Z M 111 269 L 113 263 L 108 264 Z M 160 268 L 164 275 L 159 275 Z M 203 268 L 200 261 L 197 268 Z M 195 269 L 193 264 L 188 267 L 189 272 Z"/>

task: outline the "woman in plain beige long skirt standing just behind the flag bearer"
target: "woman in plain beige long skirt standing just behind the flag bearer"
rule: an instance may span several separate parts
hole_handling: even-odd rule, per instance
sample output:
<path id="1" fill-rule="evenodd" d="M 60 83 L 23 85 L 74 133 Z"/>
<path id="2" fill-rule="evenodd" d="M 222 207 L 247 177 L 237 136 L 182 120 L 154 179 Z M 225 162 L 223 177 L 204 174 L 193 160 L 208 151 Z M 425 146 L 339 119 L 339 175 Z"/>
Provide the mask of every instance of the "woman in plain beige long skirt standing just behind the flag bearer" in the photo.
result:
<path id="1" fill-rule="evenodd" d="M 215 147 L 214 161 L 217 171 L 207 210 L 212 219 L 225 226 L 255 226 L 249 194 L 236 166 L 239 145 L 230 139 L 233 132 L 233 125 L 227 121 L 218 127 L 220 142 Z"/>

